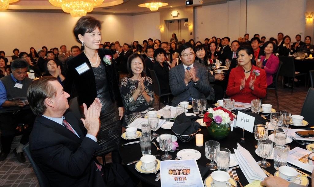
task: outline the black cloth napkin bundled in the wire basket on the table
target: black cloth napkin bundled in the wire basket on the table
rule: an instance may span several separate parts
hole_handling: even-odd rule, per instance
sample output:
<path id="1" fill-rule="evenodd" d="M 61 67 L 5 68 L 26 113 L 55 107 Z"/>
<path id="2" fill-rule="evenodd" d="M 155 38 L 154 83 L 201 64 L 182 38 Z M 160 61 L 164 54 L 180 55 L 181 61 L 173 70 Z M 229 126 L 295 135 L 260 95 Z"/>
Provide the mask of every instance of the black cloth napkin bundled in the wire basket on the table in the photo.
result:
<path id="1" fill-rule="evenodd" d="M 186 116 L 185 113 L 181 113 L 176 117 L 171 129 L 173 132 L 180 135 L 196 133 L 196 131 L 202 127 L 196 120 L 196 116 Z"/>

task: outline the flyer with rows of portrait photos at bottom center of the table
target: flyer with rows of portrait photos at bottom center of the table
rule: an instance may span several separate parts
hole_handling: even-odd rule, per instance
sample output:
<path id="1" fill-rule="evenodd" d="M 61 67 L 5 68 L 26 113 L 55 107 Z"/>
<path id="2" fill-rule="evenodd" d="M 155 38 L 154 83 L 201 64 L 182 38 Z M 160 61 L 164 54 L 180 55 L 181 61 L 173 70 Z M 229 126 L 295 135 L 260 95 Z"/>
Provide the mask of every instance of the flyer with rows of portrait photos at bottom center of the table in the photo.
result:
<path id="1" fill-rule="evenodd" d="M 204 187 L 195 159 L 160 162 L 161 186 Z"/>

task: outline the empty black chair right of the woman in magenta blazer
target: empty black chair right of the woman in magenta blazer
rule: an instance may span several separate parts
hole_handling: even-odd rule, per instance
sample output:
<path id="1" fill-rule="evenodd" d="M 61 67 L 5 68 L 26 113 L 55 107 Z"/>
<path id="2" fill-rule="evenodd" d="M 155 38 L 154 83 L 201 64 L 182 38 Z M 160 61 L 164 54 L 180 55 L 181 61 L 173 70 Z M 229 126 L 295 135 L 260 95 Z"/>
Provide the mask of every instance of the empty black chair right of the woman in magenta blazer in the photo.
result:
<path id="1" fill-rule="evenodd" d="M 279 61 L 283 62 L 283 65 L 281 67 L 281 71 L 279 72 L 279 76 L 282 77 L 288 77 L 288 84 L 290 83 L 290 79 L 294 80 L 296 76 L 306 76 L 306 73 L 298 73 L 295 74 L 295 64 L 294 59 L 291 56 L 279 56 Z M 282 78 L 282 86 L 284 86 L 284 79 Z M 305 85 L 306 85 L 306 79 L 305 79 Z M 292 87 L 291 87 L 291 95 L 293 93 L 293 81 L 292 81 Z"/>

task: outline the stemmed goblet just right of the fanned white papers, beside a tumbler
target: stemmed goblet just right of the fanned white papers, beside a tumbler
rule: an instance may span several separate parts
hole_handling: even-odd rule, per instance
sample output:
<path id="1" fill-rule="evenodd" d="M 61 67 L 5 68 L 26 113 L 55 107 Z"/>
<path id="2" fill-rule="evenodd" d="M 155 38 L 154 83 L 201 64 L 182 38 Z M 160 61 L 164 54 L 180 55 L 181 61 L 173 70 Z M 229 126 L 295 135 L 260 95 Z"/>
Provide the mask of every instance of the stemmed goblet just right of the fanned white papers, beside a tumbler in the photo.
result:
<path id="1" fill-rule="evenodd" d="M 258 161 L 260 167 L 270 167 L 270 163 L 266 161 L 266 157 L 269 157 L 273 153 L 273 141 L 268 138 L 258 139 L 257 151 L 259 156 L 263 157 L 262 161 Z"/>

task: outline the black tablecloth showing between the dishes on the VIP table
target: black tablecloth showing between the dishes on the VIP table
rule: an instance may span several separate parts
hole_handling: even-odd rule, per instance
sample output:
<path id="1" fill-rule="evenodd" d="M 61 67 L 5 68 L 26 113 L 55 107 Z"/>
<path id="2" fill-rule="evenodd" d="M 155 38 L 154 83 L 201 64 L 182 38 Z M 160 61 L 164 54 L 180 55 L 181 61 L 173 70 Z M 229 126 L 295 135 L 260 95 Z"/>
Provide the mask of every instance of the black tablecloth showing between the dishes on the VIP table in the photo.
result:
<path id="1" fill-rule="evenodd" d="M 193 112 L 192 109 L 190 109 L 188 112 Z M 263 114 L 263 113 L 261 113 Z M 265 115 L 265 114 L 264 114 Z M 269 118 L 269 116 L 267 116 Z M 200 117 L 198 117 L 200 118 Z M 291 128 L 295 128 L 295 126 L 290 125 Z M 304 126 L 307 127 L 306 129 L 309 129 L 309 125 Z M 169 133 L 169 134 L 173 134 L 175 135 L 171 129 L 163 129 L 163 128 L 159 128 L 156 133 L 160 134 L 164 134 L 164 133 Z M 179 147 L 177 149 L 179 150 L 183 150 L 183 149 L 195 149 L 198 150 L 202 156 L 199 160 L 197 160 L 197 164 L 202 176 L 202 179 L 204 181 L 205 178 L 208 177 L 208 175 L 210 173 L 212 173 L 213 171 L 216 170 L 209 170 L 206 167 L 206 164 L 208 162 L 210 162 L 210 160 L 208 160 L 205 156 L 205 142 L 208 140 L 215 140 L 212 137 L 210 137 L 210 135 L 207 132 L 206 127 L 202 127 L 201 130 L 198 132 L 204 135 L 204 144 L 201 147 L 196 146 L 195 143 L 195 138 L 193 138 L 191 141 L 189 142 L 182 142 L 180 139 L 177 140 Z M 270 133 L 269 133 L 270 134 Z M 244 138 L 245 138 L 245 142 L 241 142 L 241 138 L 243 135 L 243 130 L 241 128 L 233 128 L 233 132 L 230 132 L 229 136 L 225 139 L 221 139 L 221 140 L 216 140 L 220 143 L 220 148 L 224 147 L 224 148 L 228 148 L 232 153 L 235 153 L 233 149 L 236 149 L 236 145 L 237 143 L 239 143 L 243 148 L 245 148 L 246 150 L 248 150 L 251 155 L 253 156 L 253 158 L 256 161 L 260 161 L 262 160 L 261 157 L 257 156 L 255 153 L 255 145 L 257 144 L 257 140 L 254 138 L 254 132 L 248 132 L 245 131 L 244 132 Z M 128 142 L 132 142 L 132 141 L 137 141 L 139 139 L 133 139 L 133 140 L 125 140 L 125 139 L 121 139 L 120 141 L 120 145 L 119 145 L 119 150 L 120 150 L 120 155 L 122 158 L 122 161 L 126 164 L 130 161 L 135 161 L 135 160 L 140 160 L 140 158 L 142 157 L 142 153 L 141 153 L 141 147 L 140 144 L 129 144 L 129 145 L 124 145 L 122 146 L 122 144 L 124 143 L 128 143 Z M 156 142 L 156 144 L 159 146 L 159 143 L 156 141 L 156 139 L 153 140 L 154 142 Z M 300 145 L 297 144 L 295 141 L 292 141 L 290 144 L 291 148 L 290 150 L 292 150 L 295 147 L 300 147 L 303 149 L 306 149 L 306 145 Z M 151 155 L 164 155 L 165 152 L 164 151 L 157 151 L 156 147 L 152 144 L 152 148 L 151 148 Z M 174 160 L 176 158 L 176 153 L 178 151 L 175 152 L 170 152 L 168 151 L 168 154 L 170 154 L 172 156 L 172 160 Z M 159 159 L 160 161 L 161 158 L 160 156 L 157 156 L 156 159 Z M 273 165 L 273 160 L 267 160 L 271 163 L 271 166 L 268 168 L 264 168 L 266 171 L 268 171 L 271 174 L 274 174 L 276 172 L 274 165 Z M 135 169 L 135 164 L 131 164 L 131 165 L 126 165 L 126 167 L 139 179 L 142 180 L 142 184 L 143 186 L 161 186 L 160 184 L 160 180 L 155 182 L 155 178 L 156 178 L 156 174 L 154 173 L 139 173 L 136 169 Z M 246 180 L 244 174 L 242 173 L 241 169 L 238 168 L 236 169 L 236 172 L 239 176 L 240 182 L 243 186 L 248 184 L 248 181 Z M 306 172 L 309 173 L 309 172 Z M 309 173 L 311 174 L 311 173 Z M 310 179 L 310 178 L 309 178 Z M 240 185 L 238 185 L 240 186 Z M 311 186 L 311 180 L 310 180 L 310 184 L 308 186 Z"/>

